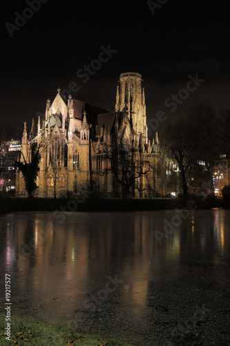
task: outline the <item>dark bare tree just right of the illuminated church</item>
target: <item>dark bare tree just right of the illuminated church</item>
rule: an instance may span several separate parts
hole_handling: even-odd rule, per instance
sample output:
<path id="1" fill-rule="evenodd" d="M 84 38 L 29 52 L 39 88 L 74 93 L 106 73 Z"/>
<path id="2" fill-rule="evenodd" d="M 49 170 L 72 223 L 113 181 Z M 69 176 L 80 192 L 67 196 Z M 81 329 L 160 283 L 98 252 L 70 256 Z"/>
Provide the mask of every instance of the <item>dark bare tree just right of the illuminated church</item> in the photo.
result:
<path id="1" fill-rule="evenodd" d="M 200 104 L 192 107 L 188 118 L 176 118 L 164 129 L 162 147 L 166 157 L 178 165 L 184 199 L 189 190 L 211 179 L 210 163 L 220 148 L 218 128 L 215 109 Z"/>

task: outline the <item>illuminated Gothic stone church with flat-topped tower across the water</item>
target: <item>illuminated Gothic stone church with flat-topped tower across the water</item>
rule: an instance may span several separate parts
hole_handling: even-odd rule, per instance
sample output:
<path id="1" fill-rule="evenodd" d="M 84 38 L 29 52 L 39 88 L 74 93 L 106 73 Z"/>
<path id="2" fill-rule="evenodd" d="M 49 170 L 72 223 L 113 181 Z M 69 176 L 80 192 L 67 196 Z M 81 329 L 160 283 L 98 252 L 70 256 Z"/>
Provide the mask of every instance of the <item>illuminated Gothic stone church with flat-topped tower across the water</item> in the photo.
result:
<path id="1" fill-rule="evenodd" d="M 133 197 L 153 197 L 161 192 L 162 162 L 157 138 L 148 140 L 142 75 L 119 77 L 115 112 L 86 102 L 68 99 L 60 89 L 46 103 L 46 117 L 32 121 L 30 133 L 24 123 L 21 160 L 30 160 L 30 147 L 41 148 L 35 197 L 70 197 L 93 190 L 99 197 L 122 197 L 127 171 L 134 175 L 129 192 Z M 121 151 L 126 161 L 121 161 Z M 116 165 L 115 165 L 116 163 Z M 116 166 L 116 167 L 115 167 Z M 122 180 L 123 179 L 123 180 Z M 17 171 L 16 195 L 26 197 Z M 124 183 L 123 183 L 124 181 Z"/>

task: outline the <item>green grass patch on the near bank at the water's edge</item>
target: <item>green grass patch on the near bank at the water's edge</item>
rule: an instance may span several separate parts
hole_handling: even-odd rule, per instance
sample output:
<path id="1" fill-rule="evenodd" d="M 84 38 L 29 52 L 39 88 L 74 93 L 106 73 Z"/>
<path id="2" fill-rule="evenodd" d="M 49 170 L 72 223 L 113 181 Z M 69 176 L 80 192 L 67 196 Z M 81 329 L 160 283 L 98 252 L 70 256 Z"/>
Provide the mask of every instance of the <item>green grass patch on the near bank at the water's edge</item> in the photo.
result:
<path id="1" fill-rule="evenodd" d="M 113 336 L 83 334 L 64 325 L 47 325 L 33 318 L 11 316 L 10 341 L 6 340 L 6 315 L 0 313 L 0 345 L 128 346 Z"/>

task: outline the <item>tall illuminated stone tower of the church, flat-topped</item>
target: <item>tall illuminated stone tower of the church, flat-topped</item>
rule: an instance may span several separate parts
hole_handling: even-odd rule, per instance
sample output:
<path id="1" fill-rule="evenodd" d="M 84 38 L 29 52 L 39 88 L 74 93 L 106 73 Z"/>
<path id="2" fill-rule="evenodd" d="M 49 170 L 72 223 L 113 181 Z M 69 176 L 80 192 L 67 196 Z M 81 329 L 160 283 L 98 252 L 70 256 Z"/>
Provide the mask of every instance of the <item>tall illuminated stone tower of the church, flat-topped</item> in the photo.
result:
<path id="1" fill-rule="evenodd" d="M 147 144 L 146 104 L 140 73 L 128 72 L 119 76 L 115 111 L 127 111 L 133 129 L 142 136 L 144 143 Z"/>

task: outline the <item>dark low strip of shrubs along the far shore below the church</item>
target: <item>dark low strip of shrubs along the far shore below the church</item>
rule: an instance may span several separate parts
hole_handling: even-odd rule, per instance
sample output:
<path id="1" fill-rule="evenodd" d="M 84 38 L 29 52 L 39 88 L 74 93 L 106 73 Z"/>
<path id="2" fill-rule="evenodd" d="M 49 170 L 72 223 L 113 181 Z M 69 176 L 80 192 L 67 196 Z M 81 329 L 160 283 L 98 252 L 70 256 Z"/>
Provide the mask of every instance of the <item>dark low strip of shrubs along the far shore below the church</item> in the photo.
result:
<path id="1" fill-rule="evenodd" d="M 93 196 L 69 199 L 15 198 L 0 197 L 0 212 L 30 212 L 30 211 L 69 211 L 69 212 L 106 212 L 106 211 L 148 211 L 188 209 L 229 209 L 230 203 L 222 199 L 201 198 L 191 195 L 189 204 L 183 199 L 95 199 Z M 192 206 L 192 208 L 191 208 Z"/>

